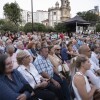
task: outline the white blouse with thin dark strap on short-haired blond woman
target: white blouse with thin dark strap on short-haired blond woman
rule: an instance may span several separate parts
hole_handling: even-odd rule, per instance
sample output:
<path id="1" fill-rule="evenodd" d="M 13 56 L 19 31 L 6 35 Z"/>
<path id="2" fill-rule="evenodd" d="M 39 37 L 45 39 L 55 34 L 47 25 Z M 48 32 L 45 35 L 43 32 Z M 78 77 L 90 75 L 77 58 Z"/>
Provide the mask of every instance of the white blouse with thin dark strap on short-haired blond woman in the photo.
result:
<path id="1" fill-rule="evenodd" d="M 23 75 L 32 88 L 35 88 L 35 85 L 41 82 L 40 78 L 42 76 L 39 75 L 32 63 L 29 64 L 29 68 L 26 68 L 24 65 L 20 65 L 17 70 Z"/>

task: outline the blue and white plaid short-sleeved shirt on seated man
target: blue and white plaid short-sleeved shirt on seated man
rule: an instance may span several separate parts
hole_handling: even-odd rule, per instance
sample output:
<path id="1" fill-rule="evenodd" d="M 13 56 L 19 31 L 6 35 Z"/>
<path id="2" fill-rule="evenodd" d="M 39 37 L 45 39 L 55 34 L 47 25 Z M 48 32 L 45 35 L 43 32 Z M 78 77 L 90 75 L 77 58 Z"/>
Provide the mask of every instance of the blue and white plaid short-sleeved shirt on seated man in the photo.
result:
<path id="1" fill-rule="evenodd" d="M 40 74 L 46 72 L 50 77 L 53 77 L 53 65 L 48 58 L 45 59 L 41 55 L 38 55 L 34 61 L 34 66 Z"/>

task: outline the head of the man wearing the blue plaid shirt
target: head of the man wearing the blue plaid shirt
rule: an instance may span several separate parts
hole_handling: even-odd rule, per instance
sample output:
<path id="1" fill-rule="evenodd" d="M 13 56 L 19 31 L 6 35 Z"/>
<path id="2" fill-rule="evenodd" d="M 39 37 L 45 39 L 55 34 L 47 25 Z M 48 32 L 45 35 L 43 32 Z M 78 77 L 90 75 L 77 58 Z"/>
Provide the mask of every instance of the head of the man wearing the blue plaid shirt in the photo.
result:
<path id="1" fill-rule="evenodd" d="M 48 57 L 48 45 L 45 43 L 41 43 L 41 48 L 39 50 L 39 53 L 41 56 L 43 56 L 44 58 Z"/>

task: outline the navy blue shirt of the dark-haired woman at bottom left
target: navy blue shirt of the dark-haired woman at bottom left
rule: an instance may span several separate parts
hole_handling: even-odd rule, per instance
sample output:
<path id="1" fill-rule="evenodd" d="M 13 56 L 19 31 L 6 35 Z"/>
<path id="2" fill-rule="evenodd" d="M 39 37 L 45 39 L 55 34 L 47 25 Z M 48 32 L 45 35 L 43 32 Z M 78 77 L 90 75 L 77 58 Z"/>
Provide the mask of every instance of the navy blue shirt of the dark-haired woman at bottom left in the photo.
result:
<path id="1" fill-rule="evenodd" d="M 25 84 L 28 84 L 17 70 L 13 70 L 12 79 L 10 80 L 6 75 L 0 75 L 0 100 L 17 100 L 20 95 L 19 91 Z M 31 97 L 28 91 L 24 93 L 27 98 Z"/>

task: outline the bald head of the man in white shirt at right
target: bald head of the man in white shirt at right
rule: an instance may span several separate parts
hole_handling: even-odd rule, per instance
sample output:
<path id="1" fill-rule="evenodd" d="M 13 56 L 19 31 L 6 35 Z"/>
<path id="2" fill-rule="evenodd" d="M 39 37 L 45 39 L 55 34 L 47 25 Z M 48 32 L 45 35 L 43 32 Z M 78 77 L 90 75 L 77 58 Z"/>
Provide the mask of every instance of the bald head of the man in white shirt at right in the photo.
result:
<path id="1" fill-rule="evenodd" d="M 88 58 L 91 58 L 91 50 L 88 45 L 84 44 L 79 48 L 79 54 L 83 54 Z"/>

